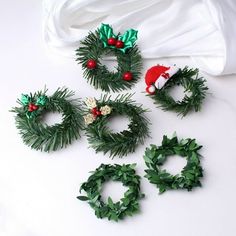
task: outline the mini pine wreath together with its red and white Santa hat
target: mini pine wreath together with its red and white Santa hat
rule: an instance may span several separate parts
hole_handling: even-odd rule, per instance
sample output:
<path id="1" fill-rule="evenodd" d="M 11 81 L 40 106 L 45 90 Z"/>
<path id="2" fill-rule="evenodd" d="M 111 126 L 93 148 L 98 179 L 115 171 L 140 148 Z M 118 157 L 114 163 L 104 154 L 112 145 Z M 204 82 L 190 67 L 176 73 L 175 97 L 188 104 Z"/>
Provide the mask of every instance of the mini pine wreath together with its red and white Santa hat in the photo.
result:
<path id="1" fill-rule="evenodd" d="M 193 78 L 195 77 L 195 78 Z M 146 75 L 146 92 L 165 111 L 175 111 L 185 116 L 190 111 L 198 112 L 206 97 L 205 80 L 198 77 L 198 69 L 179 69 L 176 66 L 157 65 L 151 67 Z M 169 91 L 174 86 L 183 86 L 185 96 L 175 101 Z M 190 95 L 187 95 L 187 93 Z"/>

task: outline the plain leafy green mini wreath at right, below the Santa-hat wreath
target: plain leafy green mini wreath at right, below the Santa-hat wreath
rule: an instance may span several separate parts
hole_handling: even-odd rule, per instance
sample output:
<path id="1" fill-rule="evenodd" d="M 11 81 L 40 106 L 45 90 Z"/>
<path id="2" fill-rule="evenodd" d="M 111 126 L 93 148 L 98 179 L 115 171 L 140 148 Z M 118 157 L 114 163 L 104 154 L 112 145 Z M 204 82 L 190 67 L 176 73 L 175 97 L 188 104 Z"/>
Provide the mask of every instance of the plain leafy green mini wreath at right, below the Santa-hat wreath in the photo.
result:
<path id="1" fill-rule="evenodd" d="M 200 178 L 203 176 L 203 170 L 200 165 L 199 146 L 195 139 L 182 139 L 163 137 L 162 145 L 157 147 L 151 145 L 146 148 L 144 160 L 146 166 L 145 177 L 150 183 L 155 184 L 159 188 L 159 193 L 163 193 L 169 189 L 187 189 L 201 186 Z M 171 155 L 179 155 L 187 159 L 187 164 L 181 171 L 181 174 L 171 175 L 161 166 Z"/>

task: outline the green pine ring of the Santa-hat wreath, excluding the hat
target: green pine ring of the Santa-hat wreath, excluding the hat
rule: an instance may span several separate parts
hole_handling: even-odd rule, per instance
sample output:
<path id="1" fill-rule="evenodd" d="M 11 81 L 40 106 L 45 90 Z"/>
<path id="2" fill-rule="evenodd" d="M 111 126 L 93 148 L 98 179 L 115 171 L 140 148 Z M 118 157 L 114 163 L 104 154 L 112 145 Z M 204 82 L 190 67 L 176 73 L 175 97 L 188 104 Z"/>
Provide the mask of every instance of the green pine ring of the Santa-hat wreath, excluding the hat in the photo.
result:
<path id="1" fill-rule="evenodd" d="M 185 96 L 181 101 L 175 101 L 169 91 L 174 86 L 183 86 Z M 185 116 L 190 111 L 198 112 L 201 108 L 204 98 L 206 97 L 205 80 L 198 77 L 198 69 L 189 69 L 185 67 L 174 74 L 161 89 L 157 89 L 153 95 L 148 95 L 154 99 L 163 110 L 175 111 Z M 190 95 L 186 93 L 189 92 Z"/>

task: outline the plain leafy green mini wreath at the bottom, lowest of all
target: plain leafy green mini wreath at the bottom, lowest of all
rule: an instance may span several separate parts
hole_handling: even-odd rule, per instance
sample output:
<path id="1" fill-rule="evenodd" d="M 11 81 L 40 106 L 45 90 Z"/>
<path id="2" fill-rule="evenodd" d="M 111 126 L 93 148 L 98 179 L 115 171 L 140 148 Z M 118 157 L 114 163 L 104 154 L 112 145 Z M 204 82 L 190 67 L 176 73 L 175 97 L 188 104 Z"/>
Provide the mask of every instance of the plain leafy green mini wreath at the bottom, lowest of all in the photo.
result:
<path id="1" fill-rule="evenodd" d="M 108 218 L 108 220 L 118 221 L 125 216 L 132 216 L 139 211 L 138 200 L 144 197 L 140 193 L 140 176 L 136 175 L 135 164 L 131 165 L 104 165 L 101 164 L 87 182 L 83 183 L 80 192 L 83 190 L 87 196 L 78 196 L 82 201 L 88 201 L 95 210 L 98 218 Z M 102 185 L 108 181 L 120 181 L 123 186 L 128 187 L 124 197 L 118 202 L 113 202 L 109 197 L 107 203 L 102 200 Z"/>

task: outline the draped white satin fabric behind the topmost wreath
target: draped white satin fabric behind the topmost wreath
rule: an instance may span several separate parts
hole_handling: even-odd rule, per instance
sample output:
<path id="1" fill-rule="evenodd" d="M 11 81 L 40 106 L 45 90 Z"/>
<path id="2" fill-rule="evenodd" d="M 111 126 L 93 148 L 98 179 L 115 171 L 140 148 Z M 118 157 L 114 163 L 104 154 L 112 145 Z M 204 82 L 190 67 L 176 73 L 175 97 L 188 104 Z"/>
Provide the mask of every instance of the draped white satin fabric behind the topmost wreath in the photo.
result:
<path id="1" fill-rule="evenodd" d="M 145 59 L 190 56 L 212 74 L 236 73 L 236 0 L 44 0 L 44 40 L 72 56 L 101 23 L 138 30 Z"/>

